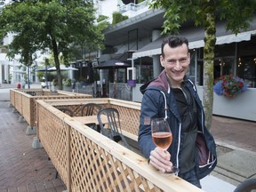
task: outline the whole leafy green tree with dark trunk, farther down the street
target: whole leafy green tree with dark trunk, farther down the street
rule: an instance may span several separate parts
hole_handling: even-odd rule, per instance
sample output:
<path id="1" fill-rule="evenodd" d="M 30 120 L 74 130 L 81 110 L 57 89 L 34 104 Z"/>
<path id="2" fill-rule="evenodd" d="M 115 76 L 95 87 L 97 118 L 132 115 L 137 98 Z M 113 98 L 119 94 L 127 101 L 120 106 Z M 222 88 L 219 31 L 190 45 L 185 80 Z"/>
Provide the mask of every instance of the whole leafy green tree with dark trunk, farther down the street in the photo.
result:
<path id="1" fill-rule="evenodd" d="M 92 1 L 27 0 L 8 4 L 0 14 L 0 35 L 15 34 L 10 44 L 10 57 L 20 53 L 29 66 L 36 51 L 50 49 L 62 89 L 60 55 L 68 65 L 74 45 L 102 47 L 103 34 L 94 24 Z M 24 44 L 25 43 L 25 44 Z"/>

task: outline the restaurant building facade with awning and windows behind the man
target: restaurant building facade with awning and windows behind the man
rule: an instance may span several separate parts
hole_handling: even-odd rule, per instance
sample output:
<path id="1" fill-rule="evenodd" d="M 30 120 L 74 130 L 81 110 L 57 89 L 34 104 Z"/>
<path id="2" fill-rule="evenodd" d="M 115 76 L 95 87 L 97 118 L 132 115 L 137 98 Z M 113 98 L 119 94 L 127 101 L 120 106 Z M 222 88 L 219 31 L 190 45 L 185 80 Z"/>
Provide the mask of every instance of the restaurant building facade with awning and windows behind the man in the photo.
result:
<path id="1" fill-rule="evenodd" d="M 140 9 L 140 4 L 124 6 L 126 8 L 123 7 L 122 10 L 129 10 L 132 17 L 109 27 L 105 31 L 105 44 L 108 49 L 112 48 L 112 54 L 132 52 L 132 57 L 128 58 L 131 60 L 131 68 L 126 68 L 123 72 L 125 78 L 117 78 L 117 84 L 128 85 L 131 100 L 140 102 L 140 85 L 156 77 L 163 69 L 159 56 L 164 38 L 161 36 L 164 11 L 149 10 L 147 6 Z M 136 8 L 131 10 L 131 7 Z M 244 78 L 249 88 L 234 99 L 214 93 L 213 114 L 256 121 L 256 17 L 247 31 L 237 35 L 226 31 L 225 22 L 218 22 L 216 29 L 214 78 L 237 75 Z M 188 76 L 194 80 L 199 95 L 203 98 L 204 28 L 186 23 L 180 28 L 180 35 L 186 36 L 189 41 L 191 63 Z M 106 55 L 100 55 L 100 58 L 104 57 Z"/>

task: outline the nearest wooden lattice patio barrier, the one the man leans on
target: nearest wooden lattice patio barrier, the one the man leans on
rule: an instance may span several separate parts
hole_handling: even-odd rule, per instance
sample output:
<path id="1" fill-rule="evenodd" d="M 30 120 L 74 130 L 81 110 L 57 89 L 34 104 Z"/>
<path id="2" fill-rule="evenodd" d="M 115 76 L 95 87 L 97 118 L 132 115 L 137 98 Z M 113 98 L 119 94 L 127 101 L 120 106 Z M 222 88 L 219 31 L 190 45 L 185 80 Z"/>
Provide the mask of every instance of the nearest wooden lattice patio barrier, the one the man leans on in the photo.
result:
<path id="1" fill-rule="evenodd" d="M 86 102 L 118 108 L 122 128 L 137 135 L 139 103 L 114 99 L 36 102 L 37 137 L 68 191 L 202 191 L 177 176 L 157 172 L 144 157 L 58 109 L 65 106 L 77 111 Z"/>

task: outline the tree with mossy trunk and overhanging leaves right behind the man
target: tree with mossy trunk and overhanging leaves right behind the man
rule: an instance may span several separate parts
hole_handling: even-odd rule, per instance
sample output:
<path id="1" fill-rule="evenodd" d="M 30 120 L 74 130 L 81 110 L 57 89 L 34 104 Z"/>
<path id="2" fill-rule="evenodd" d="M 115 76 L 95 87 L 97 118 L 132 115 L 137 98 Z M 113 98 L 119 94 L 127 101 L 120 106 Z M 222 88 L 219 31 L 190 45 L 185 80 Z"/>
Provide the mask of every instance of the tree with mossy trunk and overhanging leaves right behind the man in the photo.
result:
<path id="1" fill-rule="evenodd" d="M 216 44 L 216 20 L 226 20 L 226 29 L 237 34 L 247 29 L 256 12 L 255 0 L 153 0 L 153 9 L 164 9 L 163 33 L 178 33 L 180 25 L 193 20 L 196 26 L 204 27 L 204 93 L 205 123 L 212 124 L 213 61 Z"/>

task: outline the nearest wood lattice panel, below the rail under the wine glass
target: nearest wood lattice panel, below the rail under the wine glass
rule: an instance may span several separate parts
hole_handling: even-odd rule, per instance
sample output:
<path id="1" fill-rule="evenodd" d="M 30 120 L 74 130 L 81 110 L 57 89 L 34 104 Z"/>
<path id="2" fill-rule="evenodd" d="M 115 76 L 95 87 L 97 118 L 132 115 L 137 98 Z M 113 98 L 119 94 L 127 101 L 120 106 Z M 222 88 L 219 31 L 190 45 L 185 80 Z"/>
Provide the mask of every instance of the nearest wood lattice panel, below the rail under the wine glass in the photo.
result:
<path id="1" fill-rule="evenodd" d="M 70 144 L 72 191 L 161 191 L 80 132 Z"/>

